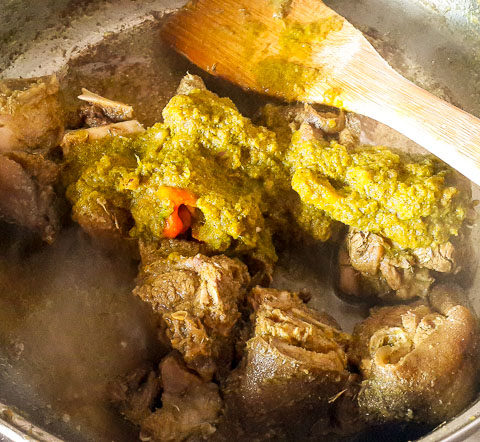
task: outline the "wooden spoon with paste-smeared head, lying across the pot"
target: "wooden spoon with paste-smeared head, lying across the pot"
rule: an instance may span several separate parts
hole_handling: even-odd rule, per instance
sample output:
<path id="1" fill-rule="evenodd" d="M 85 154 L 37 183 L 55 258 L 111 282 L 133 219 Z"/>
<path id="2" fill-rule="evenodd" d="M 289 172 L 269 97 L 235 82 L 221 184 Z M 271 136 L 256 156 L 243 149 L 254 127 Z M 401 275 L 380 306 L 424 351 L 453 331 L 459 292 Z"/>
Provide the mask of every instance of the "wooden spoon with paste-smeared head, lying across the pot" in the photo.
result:
<path id="1" fill-rule="evenodd" d="M 395 72 L 320 0 L 196 0 L 162 36 L 243 88 L 380 121 L 480 185 L 480 120 Z"/>

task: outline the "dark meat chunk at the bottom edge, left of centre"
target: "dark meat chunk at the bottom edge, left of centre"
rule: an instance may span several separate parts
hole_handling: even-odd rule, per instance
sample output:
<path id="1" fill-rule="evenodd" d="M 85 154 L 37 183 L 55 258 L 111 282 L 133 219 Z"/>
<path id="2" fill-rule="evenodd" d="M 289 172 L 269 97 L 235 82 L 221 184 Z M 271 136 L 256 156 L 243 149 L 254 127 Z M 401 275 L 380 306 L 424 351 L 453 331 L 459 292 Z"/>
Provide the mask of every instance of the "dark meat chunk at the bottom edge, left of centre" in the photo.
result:
<path id="1" fill-rule="evenodd" d="M 140 426 L 141 440 L 203 440 L 216 431 L 223 407 L 218 386 L 190 372 L 174 353 L 162 360 L 159 375 L 139 369 L 115 384 L 111 394 L 122 414 Z M 159 399 L 161 407 L 155 409 Z"/>

